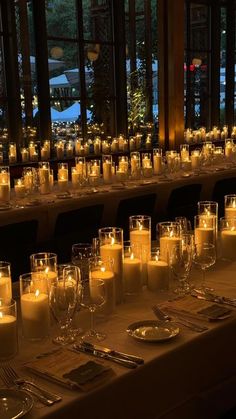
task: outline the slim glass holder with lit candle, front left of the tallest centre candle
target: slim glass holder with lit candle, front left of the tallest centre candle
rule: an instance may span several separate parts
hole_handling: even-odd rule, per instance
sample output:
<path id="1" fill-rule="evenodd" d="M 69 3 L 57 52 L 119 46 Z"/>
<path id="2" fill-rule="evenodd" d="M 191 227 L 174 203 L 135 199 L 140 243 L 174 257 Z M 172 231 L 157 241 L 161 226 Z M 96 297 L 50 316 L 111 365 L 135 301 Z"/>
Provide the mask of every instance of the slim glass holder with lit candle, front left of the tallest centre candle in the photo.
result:
<path id="1" fill-rule="evenodd" d="M 140 246 L 124 245 L 124 292 L 136 295 L 142 290 L 142 260 Z"/>

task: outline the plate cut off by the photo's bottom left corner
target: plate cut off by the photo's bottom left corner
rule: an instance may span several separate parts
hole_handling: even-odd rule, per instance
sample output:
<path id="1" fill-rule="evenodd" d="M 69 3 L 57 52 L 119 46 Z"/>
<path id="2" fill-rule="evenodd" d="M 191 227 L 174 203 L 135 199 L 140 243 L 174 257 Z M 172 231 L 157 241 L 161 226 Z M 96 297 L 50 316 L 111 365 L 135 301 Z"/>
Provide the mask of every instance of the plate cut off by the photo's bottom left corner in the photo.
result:
<path id="1" fill-rule="evenodd" d="M 30 394 L 23 390 L 0 389 L 0 418 L 21 418 L 26 415 L 34 401 Z"/>

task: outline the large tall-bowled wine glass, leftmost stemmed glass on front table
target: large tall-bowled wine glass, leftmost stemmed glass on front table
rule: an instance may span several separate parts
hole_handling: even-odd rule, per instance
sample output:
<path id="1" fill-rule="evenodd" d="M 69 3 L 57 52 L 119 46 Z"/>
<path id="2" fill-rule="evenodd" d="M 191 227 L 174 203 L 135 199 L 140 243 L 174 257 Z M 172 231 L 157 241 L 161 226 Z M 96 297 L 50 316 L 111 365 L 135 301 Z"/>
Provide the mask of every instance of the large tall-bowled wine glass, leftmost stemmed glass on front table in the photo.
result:
<path id="1" fill-rule="evenodd" d="M 53 282 L 49 292 L 49 304 L 53 317 L 59 323 L 60 334 L 53 339 L 54 343 L 66 345 L 75 341 L 69 333 L 70 324 L 75 314 L 78 296 L 81 295 L 81 285 L 64 272 Z"/>

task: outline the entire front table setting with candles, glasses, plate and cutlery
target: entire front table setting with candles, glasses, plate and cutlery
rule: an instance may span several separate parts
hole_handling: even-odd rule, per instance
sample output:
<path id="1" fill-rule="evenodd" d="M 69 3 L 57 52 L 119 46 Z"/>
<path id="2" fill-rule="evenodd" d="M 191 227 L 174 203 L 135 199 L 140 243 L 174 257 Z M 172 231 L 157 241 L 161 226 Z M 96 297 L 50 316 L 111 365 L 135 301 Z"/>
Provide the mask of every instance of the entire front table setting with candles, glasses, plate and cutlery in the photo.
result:
<path id="1" fill-rule="evenodd" d="M 234 203 L 225 197 L 226 215 Z M 55 253 L 32 254 L 31 272 L 13 286 L 10 264 L 0 263 L 4 419 L 16 405 L 21 416 L 60 417 L 126 388 L 162 359 L 174 362 L 185 347 L 196 356 L 198 337 L 227 335 L 236 322 L 235 259 L 224 241 L 233 219 L 219 223 L 212 201 L 196 212 L 193 229 L 183 217 L 158 223 L 155 242 L 151 217 L 135 215 L 129 241 L 121 228 L 102 227 L 93 243 L 75 243 L 63 265 Z"/>

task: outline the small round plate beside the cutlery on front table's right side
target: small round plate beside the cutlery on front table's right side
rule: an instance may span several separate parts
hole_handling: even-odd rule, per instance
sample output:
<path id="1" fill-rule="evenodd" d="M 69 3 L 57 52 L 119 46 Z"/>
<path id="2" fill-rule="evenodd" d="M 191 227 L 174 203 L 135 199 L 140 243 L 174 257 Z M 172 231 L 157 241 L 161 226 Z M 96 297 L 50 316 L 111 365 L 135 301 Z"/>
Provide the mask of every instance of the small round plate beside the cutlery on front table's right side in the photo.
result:
<path id="1" fill-rule="evenodd" d="M 179 328 L 174 323 L 160 320 L 135 322 L 126 331 L 134 339 L 145 342 L 163 342 L 179 334 Z"/>

